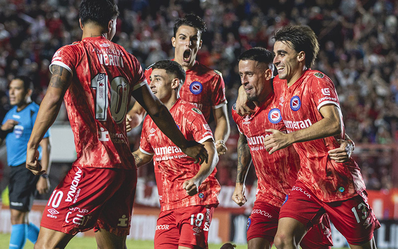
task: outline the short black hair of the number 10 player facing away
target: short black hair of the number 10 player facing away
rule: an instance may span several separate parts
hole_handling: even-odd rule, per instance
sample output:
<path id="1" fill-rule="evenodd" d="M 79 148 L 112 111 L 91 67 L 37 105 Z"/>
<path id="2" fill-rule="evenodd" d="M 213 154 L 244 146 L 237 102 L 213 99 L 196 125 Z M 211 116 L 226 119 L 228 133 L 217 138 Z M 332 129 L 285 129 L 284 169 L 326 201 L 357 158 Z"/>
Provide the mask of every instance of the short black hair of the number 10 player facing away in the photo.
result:
<path id="1" fill-rule="evenodd" d="M 119 15 L 119 9 L 114 0 L 82 0 L 79 6 L 79 17 L 82 24 L 97 22 L 103 28 L 109 20 Z"/>

